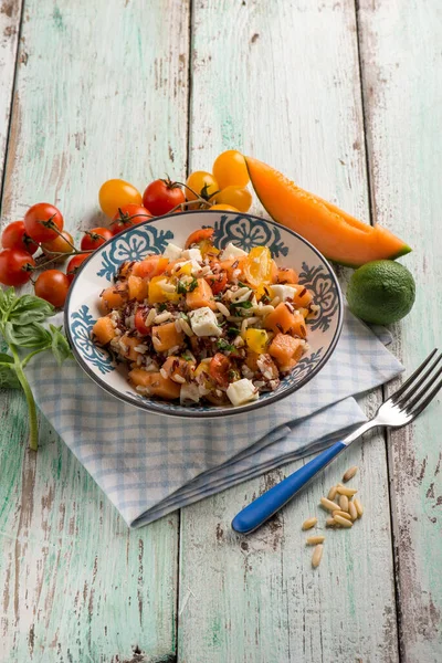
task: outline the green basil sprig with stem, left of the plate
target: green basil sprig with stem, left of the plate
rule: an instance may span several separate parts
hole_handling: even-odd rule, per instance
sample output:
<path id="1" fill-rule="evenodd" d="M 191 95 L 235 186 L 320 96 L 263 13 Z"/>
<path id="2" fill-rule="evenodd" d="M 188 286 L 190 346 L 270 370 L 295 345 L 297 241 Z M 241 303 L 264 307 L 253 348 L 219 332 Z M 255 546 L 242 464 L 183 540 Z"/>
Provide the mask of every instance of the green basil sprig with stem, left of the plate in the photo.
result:
<path id="1" fill-rule="evenodd" d="M 0 290 L 0 335 L 9 352 L 0 352 L 0 389 L 20 389 L 24 391 L 30 421 L 30 448 L 36 451 L 39 429 L 35 400 L 24 375 L 27 364 L 45 350 L 52 350 L 59 366 L 73 355 L 62 333 L 62 327 L 43 327 L 54 307 L 34 295 L 18 297 L 13 287 Z M 23 356 L 22 349 L 31 350 Z"/>

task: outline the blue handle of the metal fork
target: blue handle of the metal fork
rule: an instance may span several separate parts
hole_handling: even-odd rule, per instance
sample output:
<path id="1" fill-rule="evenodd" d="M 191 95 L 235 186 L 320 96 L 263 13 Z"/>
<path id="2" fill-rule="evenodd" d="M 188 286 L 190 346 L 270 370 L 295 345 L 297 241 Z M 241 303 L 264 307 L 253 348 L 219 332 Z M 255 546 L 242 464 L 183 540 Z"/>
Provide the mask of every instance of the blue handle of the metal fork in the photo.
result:
<path id="1" fill-rule="evenodd" d="M 313 461 L 309 461 L 261 497 L 254 499 L 233 518 L 232 528 L 241 534 L 249 534 L 263 525 L 344 449 L 347 449 L 344 442 L 336 442 L 333 446 L 319 453 Z"/>

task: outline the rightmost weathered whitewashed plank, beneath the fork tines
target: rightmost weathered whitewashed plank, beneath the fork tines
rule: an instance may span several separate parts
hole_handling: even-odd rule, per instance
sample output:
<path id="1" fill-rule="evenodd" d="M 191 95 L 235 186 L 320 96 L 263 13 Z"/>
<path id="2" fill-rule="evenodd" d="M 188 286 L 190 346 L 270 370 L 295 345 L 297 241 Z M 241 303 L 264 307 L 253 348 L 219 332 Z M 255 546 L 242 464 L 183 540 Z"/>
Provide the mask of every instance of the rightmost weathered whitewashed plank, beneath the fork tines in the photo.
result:
<path id="1" fill-rule="evenodd" d="M 408 239 L 415 306 L 394 329 L 408 370 L 441 340 L 442 8 L 360 0 L 376 219 Z M 394 389 L 394 386 L 391 386 Z M 389 444 L 400 646 L 407 663 L 442 657 L 441 396 Z"/>

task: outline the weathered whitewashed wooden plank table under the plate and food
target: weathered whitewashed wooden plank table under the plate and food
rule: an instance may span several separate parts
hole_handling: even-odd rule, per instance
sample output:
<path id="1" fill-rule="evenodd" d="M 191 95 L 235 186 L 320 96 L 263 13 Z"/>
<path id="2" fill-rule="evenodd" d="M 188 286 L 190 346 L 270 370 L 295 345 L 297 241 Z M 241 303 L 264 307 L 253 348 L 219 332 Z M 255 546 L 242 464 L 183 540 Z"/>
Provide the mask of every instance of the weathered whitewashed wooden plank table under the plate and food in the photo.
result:
<path id="1" fill-rule="evenodd" d="M 239 148 L 407 239 L 418 296 L 394 351 L 411 369 L 441 343 L 438 0 L 0 7 L 3 223 L 49 200 L 78 239 L 105 179 L 143 189 Z M 232 516 L 301 463 L 129 532 L 44 421 L 28 451 L 22 396 L 0 399 L 2 663 L 442 661 L 440 398 L 241 544 Z M 313 572 L 299 525 L 352 464 L 366 514 Z"/>

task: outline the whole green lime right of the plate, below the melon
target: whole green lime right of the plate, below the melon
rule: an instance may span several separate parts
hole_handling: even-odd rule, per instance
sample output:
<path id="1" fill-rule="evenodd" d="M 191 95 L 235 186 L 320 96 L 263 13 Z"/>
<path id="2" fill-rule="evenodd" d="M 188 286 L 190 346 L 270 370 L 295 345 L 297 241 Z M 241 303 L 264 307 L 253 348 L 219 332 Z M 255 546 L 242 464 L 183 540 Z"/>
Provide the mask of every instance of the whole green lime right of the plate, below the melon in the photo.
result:
<path id="1" fill-rule="evenodd" d="M 375 260 L 352 274 L 347 290 L 348 306 L 367 323 L 390 325 L 410 313 L 415 283 L 410 272 L 393 260 Z"/>

